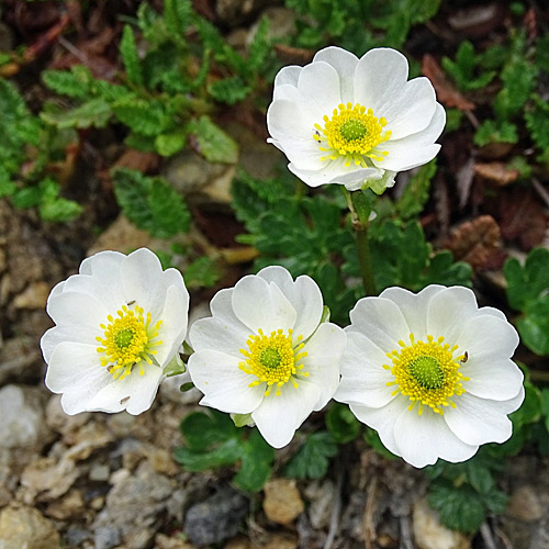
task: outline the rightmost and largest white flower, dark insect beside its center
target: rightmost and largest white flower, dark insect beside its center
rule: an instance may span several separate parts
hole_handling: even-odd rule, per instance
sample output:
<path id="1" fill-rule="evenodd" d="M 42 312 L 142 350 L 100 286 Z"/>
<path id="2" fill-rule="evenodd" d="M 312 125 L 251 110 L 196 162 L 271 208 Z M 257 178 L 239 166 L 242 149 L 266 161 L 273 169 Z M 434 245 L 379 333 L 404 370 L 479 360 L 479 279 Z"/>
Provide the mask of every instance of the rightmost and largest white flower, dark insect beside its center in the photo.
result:
<path id="1" fill-rule="evenodd" d="M 414 467 L 458 462 L 511 437 L 524 388 L 502 312 L 479 309 L 467 288 L 429 285 L 362 299 L 350 318 L 334 397 L 393 453 Z"/>

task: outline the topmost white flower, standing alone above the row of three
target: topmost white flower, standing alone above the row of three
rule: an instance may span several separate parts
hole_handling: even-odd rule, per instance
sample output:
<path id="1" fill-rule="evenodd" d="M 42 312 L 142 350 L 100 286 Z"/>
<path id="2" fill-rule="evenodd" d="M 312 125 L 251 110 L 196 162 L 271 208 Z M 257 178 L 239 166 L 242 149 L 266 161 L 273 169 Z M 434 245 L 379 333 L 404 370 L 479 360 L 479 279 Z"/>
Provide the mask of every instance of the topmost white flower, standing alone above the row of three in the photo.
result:
<path id="1" fill-rule="evenodd" d="M 440 148 L 445 110 L 427 78 L 407 76 L 395 49 L 370 49 L 360 59 L 339 47 L 321 49 L 310 65 L 277 75 L 269 142 L 311 187 L 366 183 L 382 192 L 397 171 L 428 163 Z"/>

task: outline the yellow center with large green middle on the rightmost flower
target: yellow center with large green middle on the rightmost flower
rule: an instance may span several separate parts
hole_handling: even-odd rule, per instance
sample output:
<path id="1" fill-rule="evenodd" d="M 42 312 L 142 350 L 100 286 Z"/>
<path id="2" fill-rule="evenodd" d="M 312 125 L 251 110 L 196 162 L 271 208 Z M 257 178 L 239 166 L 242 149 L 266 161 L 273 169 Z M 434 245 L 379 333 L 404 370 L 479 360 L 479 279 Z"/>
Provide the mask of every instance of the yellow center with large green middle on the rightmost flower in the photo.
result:
<path id="1" fill-rule="evenodd" d="M 394 376 L 394 381 L 388 382 L 389 386 L 396 385 L 393 394 L 407 396 L 412 401 L 408 410 L 417 402 L 419 415 L 424 405 L 441 415 L 445 406 L 456 407 L 451 397 L 463 394 L 461 382 L 469 380 L 459 371 L 466 355 L 453 356 L 458 346 L 445 344 L 442 336 L 438 339 L 427 336 L 426 343 L 416 341 L 413 334 L 410 345 L 404 341 L 399 345 L 400 349 L 386 354 L 392 366 L 383 365 Z"/>

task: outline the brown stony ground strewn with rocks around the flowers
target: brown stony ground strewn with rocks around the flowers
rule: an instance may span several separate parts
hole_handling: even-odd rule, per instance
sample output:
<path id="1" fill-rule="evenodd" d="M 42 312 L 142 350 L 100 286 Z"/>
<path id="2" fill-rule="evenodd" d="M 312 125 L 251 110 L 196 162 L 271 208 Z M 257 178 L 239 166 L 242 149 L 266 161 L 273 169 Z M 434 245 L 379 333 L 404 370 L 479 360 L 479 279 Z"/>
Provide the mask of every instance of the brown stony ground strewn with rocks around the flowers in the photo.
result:
<path id="1" fill-rule="evenodd" d="M 219 3 L 220 16 L 238 26 L 234 2 Z M 251 12 L 259 2 L 244 4 Z M 278 32 L 289 32 L 289 12 L 269 10 Z M 236 29 L 229 41 L 242 44 L 248 32 Z M 242 146 L 240 165 L 254 177 L 271 175 L 278 153 L 240 126 L 229 131 Z M 107 156 L 114 161 L 120 153 L 114 147 Z M 86 214 L 68 226 L 54 231 L 34 212 L 0 200 L 0 549 L 549 548 L 549 460 L 537 455 L 509 461 L 505 514 L 471 537 L 439 524 L 422 472 L 381 458 L 363 440 L 344 448 L 326 479 L 296 482 L 276 469 L 253 496 L 231 485 L 228 469 L 183 471 L 172 450 L 182 444 L 179 423 L 200 394 L 181 393 L 177 378 L 137 417 L 64 414 L 59 396 L 44 386 L 38 345 L 52 325 L 44 312 L 49 290 L 92 253 L 167 245 L 116 217 L 104 182 L 90 170 L 92 157 L 85 154 L 83 164 L 89 181 L 82 188 L 91 190 L 81 200 Z M 216 215 L 227 212 L 235 167 L 182 153 L 161 170 L 199 214 L 206 212 L 193 231 L 212 239 Z M 209 298 L 193 295 L 194 317 L 205 314 Z M 292 449 L 281 450 L 278 462 Z"/>

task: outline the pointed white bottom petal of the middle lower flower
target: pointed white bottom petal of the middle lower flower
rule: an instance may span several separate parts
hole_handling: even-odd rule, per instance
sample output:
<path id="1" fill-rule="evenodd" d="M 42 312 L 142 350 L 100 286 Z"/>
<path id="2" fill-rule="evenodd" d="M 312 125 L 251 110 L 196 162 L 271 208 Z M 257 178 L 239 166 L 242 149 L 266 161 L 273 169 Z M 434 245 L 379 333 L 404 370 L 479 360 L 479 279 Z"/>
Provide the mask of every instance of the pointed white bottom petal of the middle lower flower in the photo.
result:
<path id="1" fill-rule="evenodd" d="M 272 391 L 251 413 L 261 436 L 274 448 L 282 448 L 293 438 L 295 430 L 311 415 L 321 396 L 317 385 L 300 380 L 299 386 L 285 383 L 280 395 Z"/>

